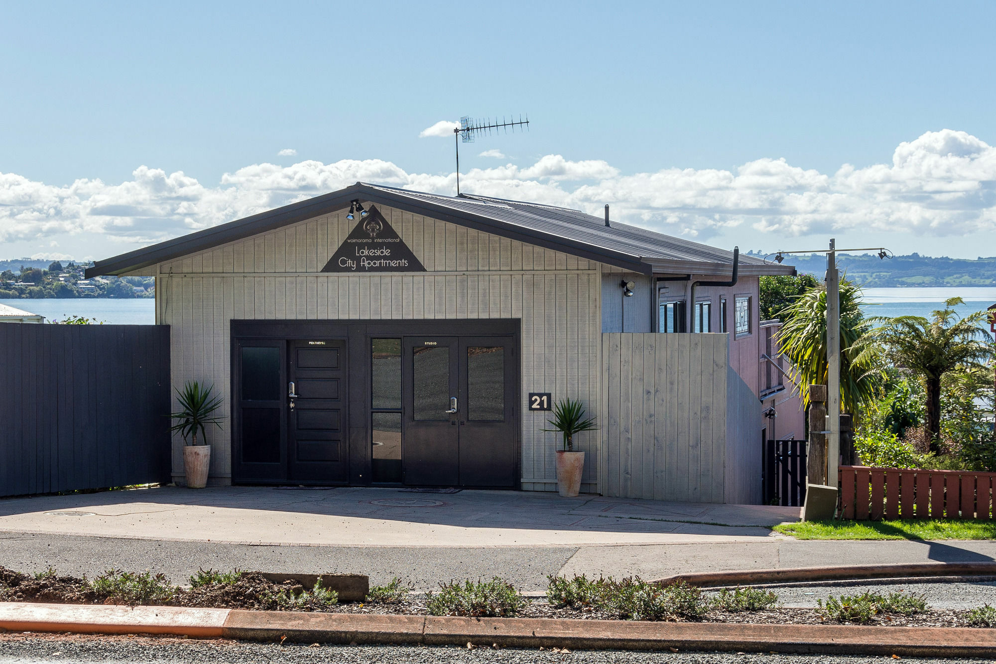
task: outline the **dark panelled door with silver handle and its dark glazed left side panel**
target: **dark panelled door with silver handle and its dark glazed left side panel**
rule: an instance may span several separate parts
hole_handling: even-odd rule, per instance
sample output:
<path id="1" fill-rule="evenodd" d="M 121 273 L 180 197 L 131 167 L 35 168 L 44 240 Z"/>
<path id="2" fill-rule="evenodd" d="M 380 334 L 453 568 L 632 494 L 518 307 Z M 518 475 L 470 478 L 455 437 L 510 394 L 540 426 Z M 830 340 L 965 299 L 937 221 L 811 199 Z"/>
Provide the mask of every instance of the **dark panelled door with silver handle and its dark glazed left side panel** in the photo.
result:
<path id="1" fill-rule="evenodd" d="M 236 480 L 347 482 L 345 340 L 239 344 Z"/>

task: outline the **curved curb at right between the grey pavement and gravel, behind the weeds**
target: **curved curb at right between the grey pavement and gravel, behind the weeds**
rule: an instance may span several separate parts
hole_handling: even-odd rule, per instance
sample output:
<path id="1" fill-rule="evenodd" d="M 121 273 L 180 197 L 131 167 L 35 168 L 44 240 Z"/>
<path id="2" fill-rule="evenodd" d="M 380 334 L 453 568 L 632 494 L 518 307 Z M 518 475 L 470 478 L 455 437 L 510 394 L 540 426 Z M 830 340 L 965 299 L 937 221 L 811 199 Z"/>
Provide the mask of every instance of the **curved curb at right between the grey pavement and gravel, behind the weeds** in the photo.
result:
<path id="1" fill-rule="evenodd" d="M 993 576 L 996 562 L 899 562 L 877 565 L 824 565 L 743 571 L 691 572 L 657 579 L 668 585 L 684 581 L 699 587 L 793 583 L 866 578 L 911 578 L 919 576 Z"/>

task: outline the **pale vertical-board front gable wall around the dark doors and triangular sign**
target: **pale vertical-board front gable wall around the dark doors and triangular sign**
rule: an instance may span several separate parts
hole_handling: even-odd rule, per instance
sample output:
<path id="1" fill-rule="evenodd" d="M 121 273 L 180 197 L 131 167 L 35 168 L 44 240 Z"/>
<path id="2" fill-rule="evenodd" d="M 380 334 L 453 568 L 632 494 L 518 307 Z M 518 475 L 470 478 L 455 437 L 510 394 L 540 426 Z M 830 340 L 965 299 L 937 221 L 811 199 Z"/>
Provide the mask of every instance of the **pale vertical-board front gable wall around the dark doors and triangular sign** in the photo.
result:
<path id="1" fill-rule="evenodd" d="M 542 431 L 549 414 L 528 411 L 527 394 L 581 399 L 602 421 L 601 266 L 390 207 L 378 209 L 426 272 L 318 272 L 355 225 L 345 211 L 221 247 L 222 256 L 243 247 L 238 255 L 244 258 L 229 273 L 212 271 L 218 263 L 213 259 L 198 261 L 196 270 L 190 257 L 161 263 L 157 322 L 174 331 L 173 385 L 213 383 L 229 403 L 232 319 L 518 318 L 522 488 L 556 491 L 555 452 L 561 441 Z M 209 434 L 217 444 L 210 471 L 216 484 L 231 478 L 230 423 L 222 427 Z M 575 437 L 576 448 L 589 453 L 585 492 L 598 491 L 600 440 L 599 432 Z M 173 474 L 182 475 L 178 439 Z"/>

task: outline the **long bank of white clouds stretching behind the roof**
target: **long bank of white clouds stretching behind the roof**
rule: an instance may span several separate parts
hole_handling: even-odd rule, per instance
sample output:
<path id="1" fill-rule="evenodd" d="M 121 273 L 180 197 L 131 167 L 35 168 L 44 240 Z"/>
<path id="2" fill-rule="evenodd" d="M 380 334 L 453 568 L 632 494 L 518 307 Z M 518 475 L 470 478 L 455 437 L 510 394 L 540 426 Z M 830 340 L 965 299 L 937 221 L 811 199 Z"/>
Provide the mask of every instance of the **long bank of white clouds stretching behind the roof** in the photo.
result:
<path id="1" fill-rule="evenodd" d="M 733 170 L 621 173 L 601 160 L 547 155 L 531 166 L 473 168 L 465 192 L 586 209 L 610 203 L 622 221 L 707 239 L 739 228 L 780 238 L 811 233 L 960 236 L 996 228 L 996 148 L 965 134 L 928 132 L 900 144 L 890 164 L 837 172 L 759 159 Z M 0 241 L 102 233 L 145 244 L 272 209 L 357 180 L 452 194 L 454 173 L 408 172 L 380 160 L 256 164 L 216 186 L 182 171 L 139 166 L 124 182 L 54 186 L 0 173 Z"/>

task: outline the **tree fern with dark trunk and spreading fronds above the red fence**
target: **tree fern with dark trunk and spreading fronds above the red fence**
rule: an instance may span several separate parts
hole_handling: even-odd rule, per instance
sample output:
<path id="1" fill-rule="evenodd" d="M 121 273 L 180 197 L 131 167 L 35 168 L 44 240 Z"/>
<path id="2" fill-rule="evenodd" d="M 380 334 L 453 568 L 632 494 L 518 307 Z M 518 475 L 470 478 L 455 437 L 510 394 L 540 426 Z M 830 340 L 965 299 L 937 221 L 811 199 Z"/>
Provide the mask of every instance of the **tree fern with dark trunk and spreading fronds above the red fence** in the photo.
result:
<path id="1" fill-rule="evenodd" d="M 930 434 L 930 450 L 938 452 L 940 437 L 940 392 L 944 374 L 957 368 L 979 367 L 993 357 L 989 334 L 982 326 L 986 312 L 977 311 L 959 318 L 954 307 L 964 302 L 952 297 L 945 308 L 923 316 L 871 318 L 881 326 L 869 332 L 860 346 L 865 349 L 881 346 L 889 363 L 902 367 L 923 379 L 926 388 L 926 425 Z"/>

